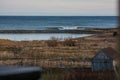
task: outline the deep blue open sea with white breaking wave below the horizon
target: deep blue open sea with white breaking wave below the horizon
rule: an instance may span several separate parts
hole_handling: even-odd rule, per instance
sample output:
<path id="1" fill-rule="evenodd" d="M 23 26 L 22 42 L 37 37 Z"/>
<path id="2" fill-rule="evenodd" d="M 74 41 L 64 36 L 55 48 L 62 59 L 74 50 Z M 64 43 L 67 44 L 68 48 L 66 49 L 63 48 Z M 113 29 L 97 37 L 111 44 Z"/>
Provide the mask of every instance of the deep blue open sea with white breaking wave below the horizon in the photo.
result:
<path id="1" fill-rule="evenodd" d="M 115 28 L 116 16 L 0 16 L 0 30 Z"/>

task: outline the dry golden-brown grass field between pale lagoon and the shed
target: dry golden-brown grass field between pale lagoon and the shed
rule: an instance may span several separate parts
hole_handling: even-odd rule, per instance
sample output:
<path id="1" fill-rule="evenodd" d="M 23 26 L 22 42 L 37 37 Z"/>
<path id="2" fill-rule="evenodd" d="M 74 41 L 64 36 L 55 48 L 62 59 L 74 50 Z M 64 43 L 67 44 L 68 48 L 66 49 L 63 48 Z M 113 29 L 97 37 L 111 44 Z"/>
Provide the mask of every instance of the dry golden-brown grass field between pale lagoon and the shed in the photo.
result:
<path id="1" fill-rule="evenodd" d="M 83 38 L 60 41 L 10 41 L 0 40 L 0 65 L 38 66 L 45 69 L 42 80 L 64 80 L 65 70 L 51 68 L 90 68 L 91 59 L 102 48 L 117 48 L 113 31 Z M 47 70 L 47 71 L 46 71 Z M 119 69 L 120 70 L 120 69 Z"/>

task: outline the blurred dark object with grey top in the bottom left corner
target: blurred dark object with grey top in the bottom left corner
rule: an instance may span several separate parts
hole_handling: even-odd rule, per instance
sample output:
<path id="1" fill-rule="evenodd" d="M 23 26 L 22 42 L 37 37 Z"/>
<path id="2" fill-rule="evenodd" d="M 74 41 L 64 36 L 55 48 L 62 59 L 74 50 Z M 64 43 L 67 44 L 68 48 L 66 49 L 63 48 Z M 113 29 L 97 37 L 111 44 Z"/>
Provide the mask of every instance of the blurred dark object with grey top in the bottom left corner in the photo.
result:
<path id="1" fill-rule="evenodd" d="M 0 80 L 40 80 L 38 67 L 0 66 Z"/>

